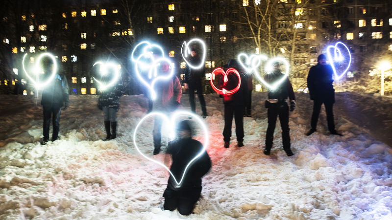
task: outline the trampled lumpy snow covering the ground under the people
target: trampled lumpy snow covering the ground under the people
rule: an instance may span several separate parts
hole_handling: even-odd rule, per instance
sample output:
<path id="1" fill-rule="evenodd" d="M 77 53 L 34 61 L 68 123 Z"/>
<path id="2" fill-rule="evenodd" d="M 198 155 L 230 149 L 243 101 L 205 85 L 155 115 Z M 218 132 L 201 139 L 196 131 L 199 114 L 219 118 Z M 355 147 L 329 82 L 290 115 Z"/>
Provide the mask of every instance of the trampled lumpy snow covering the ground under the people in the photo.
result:
<path id="1" fill-rule="evenodd" d="M 312 103 L 296 95 L 292 157 L 281 148 L 279 126 L 271 155 L 262 153 L 266 93 L 253 94 L 245 147 L 236 147 L 233 129 L 229 149 L 222 147 L 222 101 L 206 96 L 213 167 L 189 217 L 161 210 L 168 173 L 133 146 L 134 128 L 146 114 L 142 95 L 122 97 L 112 141 L 101 140 L 97 96 L 71 96 L 61 139 L 46 146 L 38 142 L 42 108 L 35 97 L 1 96 L 0 219 L 392 219 L 392 148 L 378 140 L 391 138 L 392 98 L 339 93 L 335 120 L 343 137 L 328 135 L 323 110 L 318 132 L 308 137 Z M 182 100 L 189 109 L 187 95 Z M 140 148 L 151 154 L 152 125 L 140 133 Z"/>

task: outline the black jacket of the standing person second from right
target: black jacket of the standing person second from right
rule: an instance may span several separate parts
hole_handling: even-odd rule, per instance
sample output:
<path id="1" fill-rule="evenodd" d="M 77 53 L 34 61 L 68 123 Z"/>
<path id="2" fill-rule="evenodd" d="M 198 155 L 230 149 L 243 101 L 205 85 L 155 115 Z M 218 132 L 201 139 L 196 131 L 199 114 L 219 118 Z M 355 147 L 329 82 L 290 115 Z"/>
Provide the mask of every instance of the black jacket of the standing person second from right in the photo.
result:
<path id="1" fill-rule="evenodd" d="M 284 76 L 285 75 L 280 70 L 274 70 L 270 74 L 265 75 L 264 80 L 269 84 L 273 84 Z M 276 89 L 269 90 L 268 98 L 279 100 L 290 98 L 290 100 L 295 100 L 293 86 L 291 85 L 289 78 L 286 77 Z"/>

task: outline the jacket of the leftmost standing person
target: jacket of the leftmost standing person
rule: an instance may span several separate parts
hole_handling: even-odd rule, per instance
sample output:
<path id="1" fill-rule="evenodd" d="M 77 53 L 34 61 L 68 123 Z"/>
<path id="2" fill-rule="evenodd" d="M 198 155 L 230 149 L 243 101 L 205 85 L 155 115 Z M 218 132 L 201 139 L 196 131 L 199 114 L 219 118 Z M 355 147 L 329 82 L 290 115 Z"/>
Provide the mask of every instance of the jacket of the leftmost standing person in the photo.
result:
<path id="1" fill-rule="evenodd" d="M 56 74 L 52 82 L 42 90 L 41 105 L 44 107 L 68 106 L 69 87 L 64 75 Z"/>

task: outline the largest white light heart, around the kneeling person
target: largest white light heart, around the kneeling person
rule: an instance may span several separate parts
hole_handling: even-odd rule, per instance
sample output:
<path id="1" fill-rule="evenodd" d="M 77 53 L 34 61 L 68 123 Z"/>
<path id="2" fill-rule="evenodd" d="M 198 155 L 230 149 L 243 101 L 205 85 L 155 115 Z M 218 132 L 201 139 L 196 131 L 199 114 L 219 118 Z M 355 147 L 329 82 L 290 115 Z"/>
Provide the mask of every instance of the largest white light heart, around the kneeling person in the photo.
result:
<path id="1" fill-rule="evenodd" d="M 171 140 L 173 140 L 173 139 L 175 138 L 175 135 L 176 135 L 176 134 L 175 134 L 175 130 L 176 130 L 176 125 L 177 125 L 176 119 L 179 118 L 180 116 L 190 116 L 190 117 L 192 117 L 192 119 L 195 119 L 195 120 L 196 120 L 196 122 L 200 125 L 201 129 L 202 129 L 203 132 L 204 132 L 204 143 L 203 143 L 203 148 L 202 148 L 202 149 L 200 150 L 200 152 L 198 152 L 198 153 L 196 154 L 196 156 L 195 156 L 194 158 L 192 158 L 192 159 L 189 161 L 189 163 L 186 165 L 186 167 L 185 167 L 185 169 L 184 169 L 184 172 L 182 173 L 180 179 L 177 179 L 177 178 L 172 174 L 172 172 L 170 171 L 170 169 L 169 169 L 165 164 L 163 164 L 162 162 L 157 161 L 157 160 L 155 160 L 155 159 L 153 159 L 153 158 L 151 158 L 151 157 L 148 157 L 146 154 L 143 154 L 143 152 L 140 151 L 140 149 L 139 149 L 139 147 L 138 147 L 138 145 L 137 145 L 137 143 L 136 143 L 137 133 L 138 133 L 139 127 L 143 124 L 143 122 L 144 122 L 147 118 L 152 117 L 152 116 L 161 117 L 161 118 L 163 119 L 163 121 L 166 122 L 166 123 L 164 123 L 164 125 L 165 125 L 165 130 L 169 130 L 169 138 L 170 138 Z M 174 182 L 175 182 L 175 184 L 176 184 L 176 187 L 180 187 L 181 184 L 182 184 L 182 182 L 183 182 L 183 180 L 184 180 L 184 177 L 186 176 L 186 174 L 187 174 L 187 172 L 188 172 L 188 170 L 189 170 L 189 168 L 190 168 L 190 167 L 192 166 L 192 164 L 197 160 L 197 158 L 199 158 L 199 157 L 204 153 L 204 151 L 206 150 L 206 148 L 207 148 L 207 146 L 208 146 L 208 144 L 209 144 L 209 133 L 208 133 L 207 126 L 204 124 L 203 120 L 202 120 L 199 116 L 197 116 L 196 114 L 194 114 L 194 113 L 192 113 L 192 112 L 184 111 L 184 110 L 174 111 L 174 112 L 172 112 L 170 118 L 169 118 L 168 116 L 166 116 L 166 115 L 165 115 L 164 113 L 162 113 L 162 112 L 151 112 L 151 113 L 147 114 L 146 116 L 144 116 L 144 117 L 139 121 L 139 123 L 136 125 L 135 131 L 133 132 L 133 144 L 135 145 L 135 148 L 136 148 L 136 150 L 139 152 L 139 154 L 142 154 L 142 156 L 143 156 L 144 158 L 146 158 L 147 160 L 150 160 L 150 161 L 152 161 L 152 162 L 154 162 L 154 163 L 156 163 L 156 164 L 158 164 L 158 165 L 164 167 L 167 171 L 169 171 L 170 175 L 171 175 L 171 176 L 173 177 L 173 179 L 174 179 Z M 188 147 L 188 146 L 184 146 L 184 147 Z"/>

